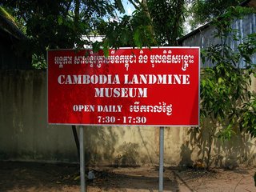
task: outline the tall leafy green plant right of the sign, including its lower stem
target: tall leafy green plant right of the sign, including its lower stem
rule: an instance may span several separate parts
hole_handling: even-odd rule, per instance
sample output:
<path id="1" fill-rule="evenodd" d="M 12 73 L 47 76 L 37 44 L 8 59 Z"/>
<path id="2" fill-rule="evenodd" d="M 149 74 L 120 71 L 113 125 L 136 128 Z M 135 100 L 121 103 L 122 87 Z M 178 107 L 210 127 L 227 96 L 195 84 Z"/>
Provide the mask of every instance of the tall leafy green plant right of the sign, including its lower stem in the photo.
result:
<path id="1" fill-rule="evenodd" d="M 214 19 L 214 38 L 218 38 L 220 43 L 203 49 L 201 53 L 202 62 L 208 61 L 214 66 L 202 70 L 200 85 L 201 122 L 204 128 L 198 139 L 202 141 L 202 134 L 206 134 L 207 130 L 207 167 L 210 166 L 214 140 L 224 142 L 238 134 L 239 130 L 256 137 L 256 95 L 250 90 L 251 77 L 255 75 L 251 56 L 256 53 L 256 34 L 242 39 L 234 50 L 226 43 L 229 38 L 234 42 L 241 38 L 238 31 L 231 28 L 234 19 L 253 12 L 239 6 L 230 7 L 220 18 Z M 239 66 L 241 61 L 246 62 L 245 67 Z"/>

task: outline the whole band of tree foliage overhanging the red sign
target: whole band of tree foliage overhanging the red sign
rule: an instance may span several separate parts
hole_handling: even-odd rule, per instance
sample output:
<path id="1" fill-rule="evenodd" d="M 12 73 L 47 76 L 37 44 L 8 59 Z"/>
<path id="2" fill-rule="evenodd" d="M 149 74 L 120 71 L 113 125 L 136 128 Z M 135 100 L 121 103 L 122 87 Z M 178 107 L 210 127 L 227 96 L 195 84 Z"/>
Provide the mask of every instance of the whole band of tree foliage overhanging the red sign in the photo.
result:
<path id="1" fill-rule="evenodd" d="M 89 42 L 82 35 L 106 35 L 94 43 L 94 51 L 102 46 L 175 46 L 182 35 L 185 0 L 129 0 L 134 14 L 124 13 L 121 0 L 3 0 L 6 7 L 25 26 L 34 61 L 42 66 L 47 49 L 82 47 Z"/>

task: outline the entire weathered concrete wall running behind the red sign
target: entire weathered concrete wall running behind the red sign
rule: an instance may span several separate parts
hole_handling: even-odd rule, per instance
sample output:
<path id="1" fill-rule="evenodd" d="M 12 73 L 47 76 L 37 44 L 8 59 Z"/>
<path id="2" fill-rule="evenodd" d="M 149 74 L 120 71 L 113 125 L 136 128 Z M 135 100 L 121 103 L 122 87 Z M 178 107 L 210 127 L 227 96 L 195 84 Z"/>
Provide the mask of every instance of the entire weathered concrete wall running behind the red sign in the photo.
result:
<path id="1" fill-rule="evenodd" d="M 254 81 L 253 84 L 256 87 Z M 0 72 L 0 160 L 78 162 L 71 126 L 46 121 L 46 71 Z M 86 126 L 86 162 L 97 165 L 158 163 L 158 127 Z M 206 157 L 207 131 L 165 129 L 165 163 L 192 165 Z M 255 140 L 246 134 L 230 142 L 214 140 L 213 166 L 255 162 Z"/>

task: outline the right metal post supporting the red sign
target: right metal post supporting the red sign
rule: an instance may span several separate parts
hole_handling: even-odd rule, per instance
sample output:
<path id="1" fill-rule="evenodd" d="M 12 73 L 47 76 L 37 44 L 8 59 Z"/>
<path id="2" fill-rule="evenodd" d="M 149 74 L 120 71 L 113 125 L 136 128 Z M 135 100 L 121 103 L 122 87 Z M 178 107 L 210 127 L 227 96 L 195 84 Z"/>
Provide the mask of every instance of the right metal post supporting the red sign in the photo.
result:
<path id="1" fill-rule="evenodd" d="M 164 127 L 160 126 L 159 133 L 159 192 L 163 191 L 163 149 L 164 149 Z"/>

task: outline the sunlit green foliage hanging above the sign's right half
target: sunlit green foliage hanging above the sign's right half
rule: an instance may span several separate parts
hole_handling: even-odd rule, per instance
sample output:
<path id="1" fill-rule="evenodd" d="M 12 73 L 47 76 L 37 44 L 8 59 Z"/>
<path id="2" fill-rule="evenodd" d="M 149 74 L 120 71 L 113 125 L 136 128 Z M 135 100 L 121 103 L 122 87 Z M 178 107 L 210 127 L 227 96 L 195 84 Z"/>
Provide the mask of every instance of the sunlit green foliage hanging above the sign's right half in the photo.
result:
<path id="1" fill-rule="evenodd" d="M 100 33 L 106 38 L 104 49 L 120 46 L 177 46 L 183 32 L 185 1 L 130 0 L 136 10 L 120 21 L 98 23 Z"/>

